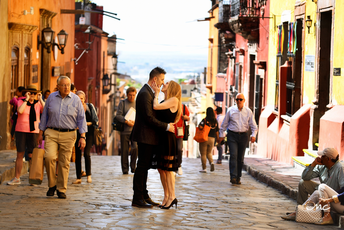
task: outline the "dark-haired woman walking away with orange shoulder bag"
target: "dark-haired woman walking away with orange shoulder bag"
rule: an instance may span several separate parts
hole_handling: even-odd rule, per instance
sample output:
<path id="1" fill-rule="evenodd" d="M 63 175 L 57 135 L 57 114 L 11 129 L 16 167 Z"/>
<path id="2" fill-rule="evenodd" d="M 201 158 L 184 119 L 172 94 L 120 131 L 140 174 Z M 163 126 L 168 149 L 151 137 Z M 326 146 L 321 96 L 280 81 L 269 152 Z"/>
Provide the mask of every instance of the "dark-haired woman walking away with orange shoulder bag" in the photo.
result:
<path id="1" fill-rule="evenodd" d="M 201 123 L 198 125 L 198 128 L 203 129 L 205 125 L 210 127 L 210 131 L 208 133 L 208 140 L 200 143 L 200 153 L 203 168 L 200 170 L 200 172 L 207 172 L 207 158 L 210 164 L 210 171 L 212 172 L 215 170 L 212 150 L 215 140 L 218 140 L 219 131 L 214 109 L 212 107 L 207 108 L 206 117 L 202 119 Z"/>

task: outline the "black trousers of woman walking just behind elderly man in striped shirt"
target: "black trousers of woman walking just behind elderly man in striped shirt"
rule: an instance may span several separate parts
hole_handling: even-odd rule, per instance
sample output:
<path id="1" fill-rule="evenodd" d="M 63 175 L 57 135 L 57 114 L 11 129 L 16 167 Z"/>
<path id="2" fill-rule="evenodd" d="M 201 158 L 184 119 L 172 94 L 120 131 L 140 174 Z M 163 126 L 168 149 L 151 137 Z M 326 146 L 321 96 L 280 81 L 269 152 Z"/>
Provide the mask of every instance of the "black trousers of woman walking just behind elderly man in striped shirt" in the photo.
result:
<path id="1" fill-rule="evenodd" d="M 78 147 L 80 140 L 79 130 L 76 132 L 76 141 L 75 141 L 75 169 L 76 169 L 76 178 L 81 179 L 81 149 Z M 85 171 L 86 176 L 91 176 L 91 156 L 89 155 L 91 148 L 93 146 L 93 133 L 86 133 L 86 145 L 84 148 L 84 158 L 85 158 Z"/>

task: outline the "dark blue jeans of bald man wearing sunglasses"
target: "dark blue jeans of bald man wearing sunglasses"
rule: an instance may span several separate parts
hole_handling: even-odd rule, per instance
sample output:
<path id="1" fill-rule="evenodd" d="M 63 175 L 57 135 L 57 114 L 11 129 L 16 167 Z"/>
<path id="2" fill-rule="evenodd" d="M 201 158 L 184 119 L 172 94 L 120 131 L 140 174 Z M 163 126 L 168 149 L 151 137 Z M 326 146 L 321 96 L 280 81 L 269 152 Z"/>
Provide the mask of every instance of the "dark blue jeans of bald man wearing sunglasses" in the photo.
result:
<path id="1" fill-rule="evenodd" d="M 237 134 L 228 132 L 227 142 L 229 148 L 229 174 L 230 179 L 240 180 L 241 171 L 244 165 L 244 155 L 248 141 L 248 133 Z"/>

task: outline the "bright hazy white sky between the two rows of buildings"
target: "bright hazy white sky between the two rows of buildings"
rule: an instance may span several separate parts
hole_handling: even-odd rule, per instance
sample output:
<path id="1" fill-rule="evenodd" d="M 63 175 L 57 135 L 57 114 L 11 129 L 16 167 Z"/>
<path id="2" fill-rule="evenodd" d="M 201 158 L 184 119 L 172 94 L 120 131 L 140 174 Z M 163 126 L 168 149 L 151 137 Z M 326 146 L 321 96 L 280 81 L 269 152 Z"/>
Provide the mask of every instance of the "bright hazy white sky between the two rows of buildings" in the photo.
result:
<path id="1" fill-rule="evenodd" d="M 104 6 L 105 11 L 117 13 L 115 17 L 121 19 L 103 17 L 103 30 L 109 36 L 115 33 L 117 38 L 125 39 L 117 40 L 124 43 L 117 43 L 118 61 L 135 65 L 135 60 L 147 59 L 152 65 L 154 62 L 159 64 L 159 61 L 166 65 L 178 65 L 178 60 L 173 62 L 180 57 L 181 60 L 204 59 L 206 64 L 209 22 L 189 21 L 209 17 L 210 0 L 93 2 Z"/>

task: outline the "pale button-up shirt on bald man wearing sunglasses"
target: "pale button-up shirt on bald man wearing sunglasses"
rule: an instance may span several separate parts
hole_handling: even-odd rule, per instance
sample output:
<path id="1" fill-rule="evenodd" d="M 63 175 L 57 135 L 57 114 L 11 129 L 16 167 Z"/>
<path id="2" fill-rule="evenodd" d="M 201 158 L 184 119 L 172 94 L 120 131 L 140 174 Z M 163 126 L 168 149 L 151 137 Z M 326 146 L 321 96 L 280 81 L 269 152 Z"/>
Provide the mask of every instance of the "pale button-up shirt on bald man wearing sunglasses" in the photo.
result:
<path id="1" fill-rule="evenodd" d="M 251 109 L 244 106 L 241 111 L 239 111 L 238 106 L 234 105 L 227 109 L 227 113 L 221 124 L 218 136 L 224 137 L 224 132 L 227 128 L 233 132 L 246 132 L 249 127 L 251 127 L 252 130 L 252 137 L 256 137 L 258 126 Z"/>

